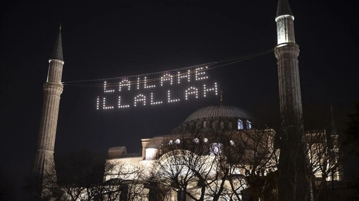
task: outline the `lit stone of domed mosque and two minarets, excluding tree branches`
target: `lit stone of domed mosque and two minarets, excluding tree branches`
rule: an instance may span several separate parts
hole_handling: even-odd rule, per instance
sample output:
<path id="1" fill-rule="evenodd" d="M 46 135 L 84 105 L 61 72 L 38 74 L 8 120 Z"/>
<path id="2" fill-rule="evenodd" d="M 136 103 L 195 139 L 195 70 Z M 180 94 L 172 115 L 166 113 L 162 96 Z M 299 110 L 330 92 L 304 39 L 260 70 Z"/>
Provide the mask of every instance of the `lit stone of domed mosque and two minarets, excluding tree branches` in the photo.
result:
<path id="1" fill-rule="evenodd" d="M 277 45 L 274 48 L 274 52 L 278 60 L 280 112 L 284 118 L 288 117 L 290 112 L 292 114 L 295 112 L 298 118 L 300 118 L 302 116 L 302 101 L 298 70 L 299 46 L 295 43 L 294 16 L 287 0 L 278 1 L 275 22 L 277 25 Z M 50 167 L 48 167 L 47 164 L 53 162 L 59 100 L 63 90 L 63 85 L 61 84 L 63 65 L 64 59 L 60 29 L 49 59 L 48 76 L 43 88 L 44 102 L 41 126 L 37 152 L 32 168 L 32 175 L 39 180 L 42 180 L 49 170 Z M 128 174 L 107 174 L 104 176 L 105 183 L 107 182 L 107 184 L 110 185 L 111 182 L 115 180 L 129 181 L 127 183 L 122 182 L 119 200 L 127 200 L 127 198 L 131 196 L 131 188 L 135 188 L 135 186 L 138 185 L 141 185 L 142 188 L 145 189 L 145 194 L 137 195 L 139 196 L 137 200 L 185 201 L 203 199 L 210 201 L 217 196 L 216 192 L 219 191 L 220 187 L 225 189 L 222 189 L 222 192 L 226 192 L 226 195 L 224 195 L 224 193 L 218 195 L 217 200 L 228 200 L 228 196 L 232 196 L 232 200 L 246 200 L 245 189 L 247 186 L 243 183 L 243 177 L 244 175 L 252 173 L 250 171 L 255 167 L 253 167 L 251 163 L 256 159 L 256 156 L 261 155 L 261 159 L 266 159 L 267 164 L 269 164 L 268 167 L 263 168 L 262 172 L 258 173 L 263 176 L 269 175 L 276 170 L 277 167 L 275 163 L 279 157 L 279 155 L 276 155 L 278 150 L 275 150 L 273 146 L 275 131 L 272 129 L 257 130 L 256 128 L 252 128 L 253 121 L 253 117 L 247 111 L 236 106 L 224 104 L 221 95 L 219 104 L 196 110 L 180 123 L 178 127 L 174 128 L 170 134 L 141 139 L 141 153 L 127 153 L 125 146 L 111 147 L 108 150 L 107 163 L 114 164 L 115 166 L 125 164 L 126 167 L 121 170 L 122 172 L 129 172 L 131 168 L 142 168 L 146 170 L 145 174 L 147 178 L 149 178 L 153 172 L 158 170 L 165 172 L 162 174 L 162 178 L 160 178 L 164 179 L 163 177 L 171 176 L 170 172 L 166 173 L 165 167 L 167 166 L 167 169 L 171 169 L 172 173 L 177 173 L 174 175 L 177 176 L 177 179 L 183 179 L 183 177 L 186 176 L 195 177 L 196 179 L 187 178 L 188 180 L 185 186 L 181 186 L 183 184 L 181 183 L 182 180 L 177 183 L 170 182 L 167 186 L 166 193 L 161 198 L 159 198 L 159 188 L 153 187 L 153 185 L 158 186 L 159 184 L 155 182 L 155 178 L 153 178 L 153 182 L 148 182 L 147 180 L 147 184 L 140 183 L 140 180 L 137 180 L 140 184 L 131 183 L 131 181 L 135 180 L 136 171 L 132 171 L 132 173 Z M 210 134 L 211 132 L 212 134 Z M 218 134 L 221 134 L 222 137 L 214 137 L 215 135 L 218 136 Z M 259 136 L 261 141 L 256 141 L 256 139 L 259 138 L 255 136 Z M 337 138 L 337 135 L 332 136 Z M 261 150 L 265 151 L 260 153 L 258 149 L 254 149 L 255 144 L 257 148 L 260 146 L 262 147 Z M 186 146 L 188 150 L 191 150 L 192 153 L 187 152 L 188 150 L 186 151 L 188 155 L 195 153 L 192 155 L 192 158 L 183 154 L 183 151 L 179 151 L 178 148 L 182 146 Z M 242 149 L 243 152 L 230 152 L 232 149 L 235 150 L 231 147 L 240 146 L 244 147 Z M 224 152 L 230 153 L 227 159 L 228 157 L 233 157 L 232 162 L 227 163 L 227 165 L 235 165 L 231 166 L 233 168 L 230 170 L 233 178 L 227 178 L 227 180 L 232 180 L 233 182 L 226 181 L 221 185 L 223 181 L 221 175 L 223 174 L 219 174 L 218 169 L 222 166 L 222 163 L 221 161 L 219 162 L 218 159 L 221 153 Z M 269 159 L 269 154 L 274 154 L 275 157 L 271 156 L 271 159 Z M 246 159 L 243 159 L 243 157 L 238 158 L 238 155 L 246 156 Z M 205 174 L 205 176 L 201 176 L 202 180 L 198 179 L 198 175 L 196 175 L 199 174 L 199 172 L 194 172 L 190 170 L 189 167 L 183 167 L 183 164 L 186 162 L 189 163 L 194 158 L 197 161 L 192 165 L 202 165 L 200 167 L 203 169 L 201 174 Z M 203 158 L 206 160 L 202 160 Z M 178 164 L 181 168 L 180 170 L 179 167 L 168 165 L 173 159 L 176 163 L 179 162 L 180 159 L 183 160 L 180 165 Z M 236 163 L 241 163 L 241 165 L 239 166 Z M 187 173 L 185 174 L 183 171 Z M 320 174 L 318 174 L 318 176 L 320 176 Z M 203 179 L 205 181 L 203 181 Z M 340 179 L 337 173 L 334 179 Z M 207 180 L 210 180 L 211 184 L 206 186 L 204 183 L 206 183 Z M 160 181 L 162 181 L 162 183 L 160 183 L 161 185 L 166 186 L 165 180 Z M 203 186 L 206 187 L 203 188 Z M 184 189 L 184 187 L 186 189 Z M 194 192 L 191 195 L 194 196 L 195 199 L 188 196 L 188 194 L 186 195 L 185 192 Z M 214 193 L 211 194 L 211 192 Z M 84 196 L 86 197 L 86 194 L 84 194 Z M 202 197 L 199 198 L 199 196 Z"/>

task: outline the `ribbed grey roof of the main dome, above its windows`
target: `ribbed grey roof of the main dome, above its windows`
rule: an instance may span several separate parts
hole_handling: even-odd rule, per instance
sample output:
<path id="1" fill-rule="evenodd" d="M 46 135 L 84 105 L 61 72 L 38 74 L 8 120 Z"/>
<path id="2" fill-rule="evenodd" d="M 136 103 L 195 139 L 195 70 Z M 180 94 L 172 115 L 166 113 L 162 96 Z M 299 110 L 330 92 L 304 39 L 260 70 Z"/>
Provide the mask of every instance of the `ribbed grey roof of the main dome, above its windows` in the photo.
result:
<path id="1" fill-rule="evenodd" d="M 202 118 L 208 119 L 215 117 L 252 119 L 252 116 L 244 109 L 226 104 L 217 104 L 198 109 L 197 111 L 189 115 L 187 119 L 184 120 L 184 122 Z"/>

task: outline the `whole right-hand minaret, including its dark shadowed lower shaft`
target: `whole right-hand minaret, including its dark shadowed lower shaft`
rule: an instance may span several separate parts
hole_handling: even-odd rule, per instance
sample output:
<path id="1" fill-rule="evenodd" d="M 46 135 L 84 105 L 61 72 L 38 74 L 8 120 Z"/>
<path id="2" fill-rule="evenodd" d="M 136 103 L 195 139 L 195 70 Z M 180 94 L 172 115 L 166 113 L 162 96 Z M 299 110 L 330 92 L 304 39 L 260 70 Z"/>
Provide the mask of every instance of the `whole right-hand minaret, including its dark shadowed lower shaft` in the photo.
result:
<path id="1" fill-rule="evenodd" d="M 279 101 L 281 115 L 280 155 L 278 164 L 279 201 L 306 201 L 306 154 L 302 120 L 302 98 L 299 80 L 299 46 L 295 43 L 294 15 L 288 0 L 278 0 L 277 45 Z"/>

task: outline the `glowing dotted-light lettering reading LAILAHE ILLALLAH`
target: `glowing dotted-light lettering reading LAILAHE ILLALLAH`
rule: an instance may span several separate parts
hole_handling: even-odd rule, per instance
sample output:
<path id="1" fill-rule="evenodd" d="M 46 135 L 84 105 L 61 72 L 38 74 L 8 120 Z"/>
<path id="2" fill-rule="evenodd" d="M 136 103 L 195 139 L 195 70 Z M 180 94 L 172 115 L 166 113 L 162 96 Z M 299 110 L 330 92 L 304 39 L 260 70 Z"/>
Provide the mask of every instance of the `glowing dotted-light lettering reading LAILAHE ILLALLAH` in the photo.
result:
<path id="1" fill-rule="evenodd" d="M 171 70 L 156 74 L 121 77 L 103 83 L 103 95 L 97 96 L 96 109 L 123 109 L 207 98 L 218 95 L 218 84 L 210 80 L 208 67 Z M 117 105 L 117 106 L 116 106 Z"/>

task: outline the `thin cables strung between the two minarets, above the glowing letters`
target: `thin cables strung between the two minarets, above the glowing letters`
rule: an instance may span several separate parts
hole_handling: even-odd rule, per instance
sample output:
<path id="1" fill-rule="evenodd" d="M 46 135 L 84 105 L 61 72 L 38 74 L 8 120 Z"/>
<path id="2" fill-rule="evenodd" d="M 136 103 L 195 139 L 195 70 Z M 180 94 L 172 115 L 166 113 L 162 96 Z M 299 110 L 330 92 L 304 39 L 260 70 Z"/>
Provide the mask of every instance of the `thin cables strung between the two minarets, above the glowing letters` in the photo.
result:
<path id="1" fill-rule="evenodd" d="M 209 69 L 213 69 L 213 68 L 217 68 L 217 67 L 224 67 L 227 65 L 231 65 L 237 62 L 242 62 L 248 59 L 252 59 L 261 55 L 265 55 L 268 54 L 270 52 L 273 52 L 273 49 L 269 49 L 269 50 L 265 50 L 265 51 L 261 51 L 258 53 L 254 53 L 254 54 L 249 54 L 249 55 L 244 55 L 244 56 L 238 56 L 238 57 L 234 57 L 234 58 L 228 58 L 228 59 L 224 59 L 221 61 L 217 61 L 217 62 L 211 62 L 211 63 L 206 63 L 206 64 L 200 64 L 200 65 L 196 65 L 196 66 L 191 66 L 191 67 L 182 67 L 182 68 L 177 68 L 177 69 L 172 69 L 172 70 L 165 70 L 165 71 L 160 71 L 160 72 L 153 72 L 153 73 L 146 73 L 146 74 L 138 74 L 138 75 L 131 75 L 131 76 L 122 76 L 122 77 L 113 77 L 113 78 L 101 78 L 101 79 L 91 79 L 91 80 L 78 80 L 78 81 L 66 81 L 66 82 L 62 82 L 63 85 L 66 86 L 77 86 L 77 87 L 103 87 L 103 81 L 107 81 L 107 80 L 117 80 L 117 79 L 121 79 L 121 80 L 126 80 L 126 86 L 130 86 L 130 85 L 135 85 L 135 84 L 142 84 L 142 83 L 147 83 L 147 82 L 154 82 L 154 81 L 159 81 L 162 79 L 166 79 L 168 77 L 179 77 L 179 76 L 186 76 L 192 73 L 198 73 L 204 70 L 209 70 Z M 183 70 L 187 70 L 185 72 L 178 72 L 178 74 L 175 75 L 171 75 L 170 72 L 174 72 L 174 71 L 183 71 Z M 146 79 L 146 77 L 144 78 L 144 80 L 139 80 L 139 77 L 143 77 L 146 75 L 153 75 L 153 74 L 165 74 L 162 77 L 159 78 L 152 78 L 152 79 Z M 137 77 L 136 81 L 129 81 L 129 78 L 133 78 L 133 77 Z M 100 81 L 102 81 L 101 83 L 99 83 Z M 92 82 L 92 83 L 90 83 Z M 96 83 L 93 83 L 96 82 Z M 115 86 L 118 85 L 118 83 L 107 83 L 107 86 Z"/>

